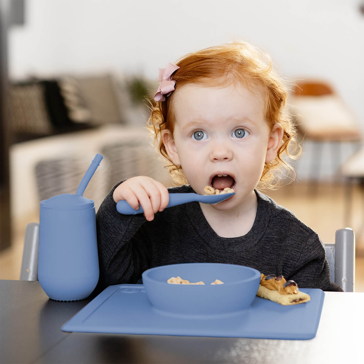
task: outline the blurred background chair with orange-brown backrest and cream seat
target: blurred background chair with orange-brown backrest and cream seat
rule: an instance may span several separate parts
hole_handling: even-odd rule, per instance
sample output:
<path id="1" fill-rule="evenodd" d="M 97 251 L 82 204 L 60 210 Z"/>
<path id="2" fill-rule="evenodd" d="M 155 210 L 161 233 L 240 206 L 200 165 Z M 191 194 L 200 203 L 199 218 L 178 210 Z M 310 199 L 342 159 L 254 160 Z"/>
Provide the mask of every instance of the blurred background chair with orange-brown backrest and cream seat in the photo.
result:
<path id="1" fill-rule="evenodd" d="M 355 117 L 340 96 L 326 82 L 301 81 L 293 87 L 290 112 L 296 119 L 297 130 L 313 142 L 310 179 L 317 181 L 323 166 L 323 145 L 331 144 L 332 166 L 341 166 L 341 144 L 353 143 L 355 149 L 362 140 Z"/>

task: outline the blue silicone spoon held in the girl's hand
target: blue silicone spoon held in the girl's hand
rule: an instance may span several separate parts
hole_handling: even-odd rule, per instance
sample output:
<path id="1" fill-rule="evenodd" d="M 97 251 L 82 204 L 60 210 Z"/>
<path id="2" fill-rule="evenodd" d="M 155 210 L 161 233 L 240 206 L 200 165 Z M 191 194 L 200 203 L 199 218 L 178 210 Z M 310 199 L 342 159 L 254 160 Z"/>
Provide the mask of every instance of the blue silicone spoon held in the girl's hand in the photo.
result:
<path id="1" fill-rule="evenodd" d="M 170 193 L 169 203 L 166 209 L 168 209 L 168 207 L 182 205 L 183 203 L 193 202 L 193 201 L 210 203 L 210 204 L 219 203 L 221 201 L 226 200 L 227 198 L 231 197 L 234 194 L 235 192 L 221 194 L 221 195 L 198 195 L 197 193 Z M 123 215 L 135 215 L 144 212 L 144 210 L 140 205 L 139 209 L 135 210 L 124 200 L 121 200 L 118 203 L 116 203 L 116 210 L 118 210 L 118 212 Z"/>

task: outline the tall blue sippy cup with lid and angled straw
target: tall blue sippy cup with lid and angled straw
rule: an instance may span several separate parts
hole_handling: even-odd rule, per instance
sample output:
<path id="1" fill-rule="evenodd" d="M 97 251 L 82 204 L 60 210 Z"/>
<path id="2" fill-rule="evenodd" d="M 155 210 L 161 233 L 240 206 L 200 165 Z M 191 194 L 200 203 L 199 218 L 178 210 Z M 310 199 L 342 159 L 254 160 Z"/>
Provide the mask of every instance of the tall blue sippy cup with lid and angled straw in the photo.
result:
<path id="1" fill-rule="evenodd" d="M 102 158 L 96 154 L 76 194 L 40 202 L 38 280 L 52 300 L 82 300 L 99 280 L 95 205 L 83 193 Z"/>

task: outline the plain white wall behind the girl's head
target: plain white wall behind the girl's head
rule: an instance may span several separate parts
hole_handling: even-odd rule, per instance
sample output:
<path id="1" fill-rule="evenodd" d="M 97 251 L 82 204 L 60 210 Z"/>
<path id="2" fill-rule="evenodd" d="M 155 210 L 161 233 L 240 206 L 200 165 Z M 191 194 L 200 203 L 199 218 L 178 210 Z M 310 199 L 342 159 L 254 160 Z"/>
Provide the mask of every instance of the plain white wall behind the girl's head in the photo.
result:
<path id="1" fill-rule="evenodd" d="M 268 51 L 288 79 L 320 77 L 364 131 L 364 18 L 359 0 L 28 0 L 13 28 L 9 66 L 27 75 L 112 71 L 157 78 L 158 68 L 235 39 Z"/>

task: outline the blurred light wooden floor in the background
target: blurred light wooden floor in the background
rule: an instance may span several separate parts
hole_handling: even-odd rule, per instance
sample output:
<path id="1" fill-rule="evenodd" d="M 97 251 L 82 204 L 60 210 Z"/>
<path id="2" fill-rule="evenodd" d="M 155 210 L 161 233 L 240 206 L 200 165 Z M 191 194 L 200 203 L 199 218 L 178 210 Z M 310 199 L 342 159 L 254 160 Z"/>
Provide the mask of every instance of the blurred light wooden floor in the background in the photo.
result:
<path id="1" fill-rule="evenodd" d="M 337 229 L 351 227 L 356 234 L 355 291 L 364 292 L 363 189 L 359 185 L 353 187 L 349 223 L 346 223 L 344 216 L 346 205 L 343 185 L 318 185 L 316 192 L 313 193 L 311 185 L 295 182 L 276 191 L 265 193 L 312 227 L 324 243 L 335 241 Z M 12 247 L 0 254 L 0 279 L 19 279 L 24 232 L 28 222 L 39 222 L 37 211 L 15 222 Z"/>

